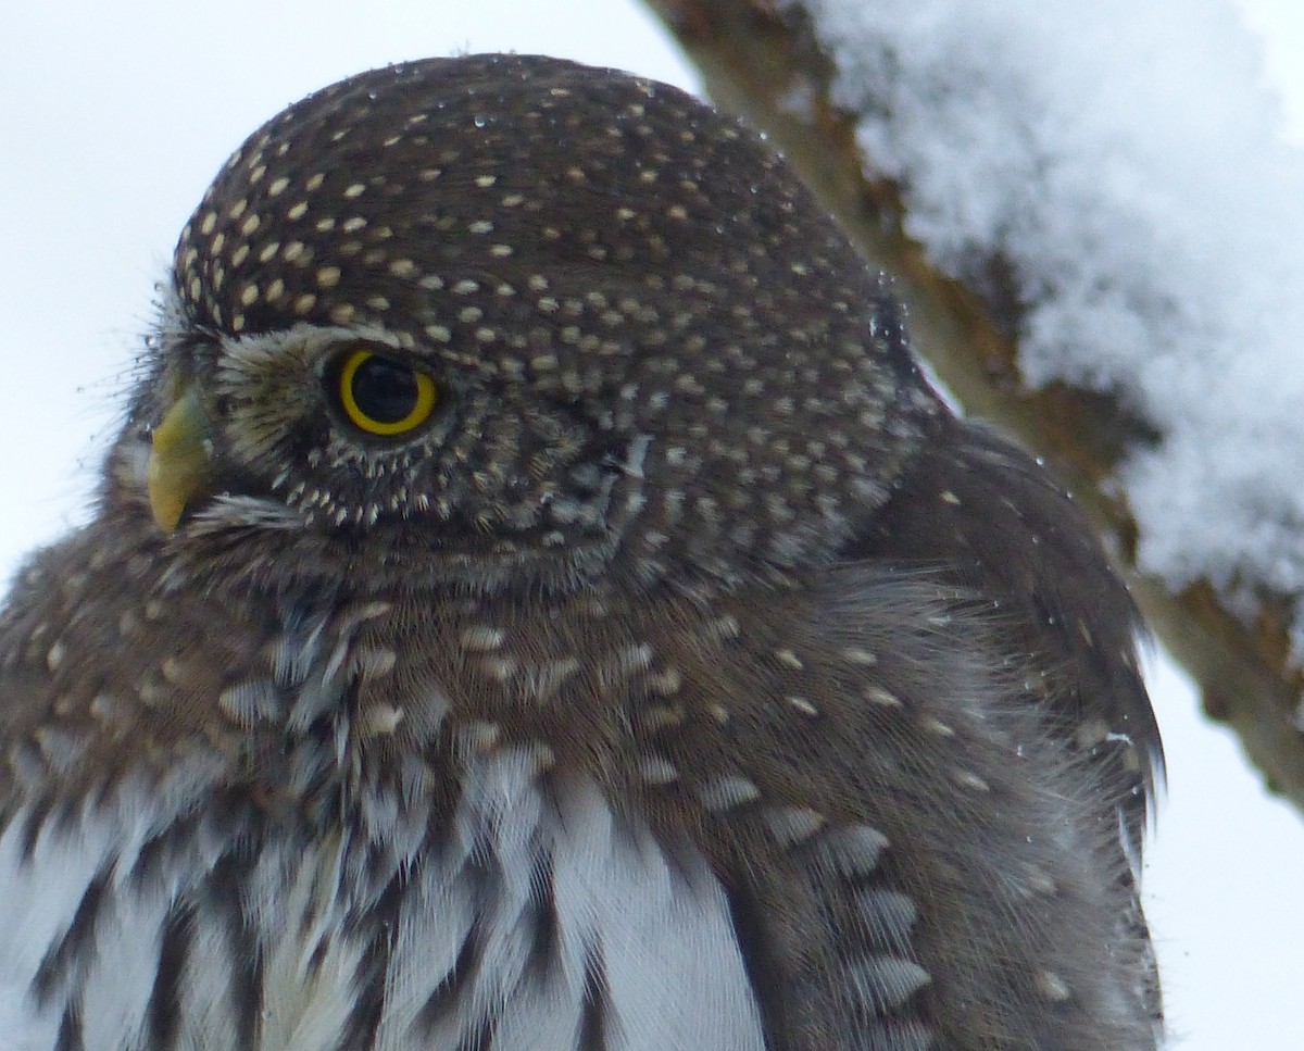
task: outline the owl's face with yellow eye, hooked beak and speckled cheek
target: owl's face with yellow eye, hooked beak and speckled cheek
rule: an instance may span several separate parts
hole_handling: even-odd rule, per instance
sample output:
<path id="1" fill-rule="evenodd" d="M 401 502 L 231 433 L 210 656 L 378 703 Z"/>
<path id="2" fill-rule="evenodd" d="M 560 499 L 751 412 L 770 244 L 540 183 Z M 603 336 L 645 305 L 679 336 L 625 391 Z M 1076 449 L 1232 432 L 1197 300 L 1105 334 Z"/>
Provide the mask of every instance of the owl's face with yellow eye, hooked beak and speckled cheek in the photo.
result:
<path id="1" fill-rule="evenodd" d="M 383 326 L 188 339 L 162 361 L 150 501 L 164 528 L 194 512 L 211 531 L 257 501 L 344 544 L 422 527 L 430 557 L 456 561 L 601 544 L 613 501 L 632 498 L 619 437 L 583 403 L 450 368 Z"/>

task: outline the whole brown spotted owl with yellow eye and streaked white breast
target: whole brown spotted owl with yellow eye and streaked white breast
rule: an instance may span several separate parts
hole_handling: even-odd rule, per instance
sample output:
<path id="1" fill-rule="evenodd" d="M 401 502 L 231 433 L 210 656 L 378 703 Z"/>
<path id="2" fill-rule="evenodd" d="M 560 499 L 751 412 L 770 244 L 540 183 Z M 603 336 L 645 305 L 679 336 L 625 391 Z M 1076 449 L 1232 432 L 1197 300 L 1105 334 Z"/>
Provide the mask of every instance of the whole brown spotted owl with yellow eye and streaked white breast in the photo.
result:
<path id="1" fill-rule="evenodd" d="M 1153 1047 L 1136 626 L 756 136 L 364 73 L 0 619 L 0 1047 Z"/>

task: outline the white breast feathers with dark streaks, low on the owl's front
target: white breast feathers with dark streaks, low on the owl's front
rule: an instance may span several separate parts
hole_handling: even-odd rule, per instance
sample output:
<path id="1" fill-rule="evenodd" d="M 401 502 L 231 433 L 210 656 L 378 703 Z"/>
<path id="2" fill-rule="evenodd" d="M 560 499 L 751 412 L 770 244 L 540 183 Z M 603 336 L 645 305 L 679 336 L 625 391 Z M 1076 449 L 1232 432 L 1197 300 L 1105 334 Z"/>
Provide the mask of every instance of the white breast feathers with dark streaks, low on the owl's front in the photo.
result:
<path id="1" fill-rule="evenodd" d="M 406 865 L 383 909 L 356 879 L 363 845 L 343 835 L 270 844 L 236 906 L 214 893 L 223 848 L 202 832 L 168 878 L 141 879 L 145 844 L 192 793 L 168 812 L 124 795 L 47 824 L 27 857 L 20 816 L 0 836 L 0 1050 L 51 1051 L 78 1000 L 86 1051 L 153 1048 L 150 1003 L 166 994 L 179 1047 L 250 1051 L 231 958 L 257 944 L 257 1051 L 334 1051 L 360 990 L 379 994 L 378 1051 L 442 1051 L 481 1031 L 494 1048 L 570 1051 L 585 1028 L 609 1051 L 760 1051 L 728 901 L 702 857 L 677 845 L 668 858 L 592 782 L 541 784 L 527 751 L 471 763 L 452 835 Z M 173 971 L 160 983 L 179 925 L 185 951 L 162 961 Z M 38 1001 L 43 965 L 57 979 Z"/>

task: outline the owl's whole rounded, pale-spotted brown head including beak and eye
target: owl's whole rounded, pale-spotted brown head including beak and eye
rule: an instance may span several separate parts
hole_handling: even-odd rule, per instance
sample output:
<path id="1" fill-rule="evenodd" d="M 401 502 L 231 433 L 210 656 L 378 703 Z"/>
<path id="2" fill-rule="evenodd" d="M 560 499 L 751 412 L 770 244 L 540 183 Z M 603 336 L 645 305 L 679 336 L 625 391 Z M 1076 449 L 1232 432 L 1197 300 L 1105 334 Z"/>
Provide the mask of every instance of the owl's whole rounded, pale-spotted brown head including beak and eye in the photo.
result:
<path id="1" fill-rule="evenodd" d="M 480 585 L 790 569 L 936 411 L 883 318 L 786 167 L 673 89 L 377 70 L 256 132 L 183 232 L 136 485 L 179 537 Z"/>

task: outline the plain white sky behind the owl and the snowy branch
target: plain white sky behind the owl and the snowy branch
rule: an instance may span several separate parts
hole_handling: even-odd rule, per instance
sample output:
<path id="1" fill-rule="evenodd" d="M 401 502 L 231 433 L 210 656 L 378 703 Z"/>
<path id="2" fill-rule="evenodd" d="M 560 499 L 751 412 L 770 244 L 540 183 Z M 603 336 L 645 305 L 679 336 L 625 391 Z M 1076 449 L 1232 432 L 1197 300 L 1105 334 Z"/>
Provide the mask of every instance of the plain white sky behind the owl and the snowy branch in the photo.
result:
<path id="1" fill-rule="evenodd" d="M 1304 141 L 1304 14 L 1297 0 L 1244 7 L 1270 34 Z M 0 572 L 80 519 L 176 235 L 226 155 L 284 104 L 452 51 L 541 51 L 698 86 L 630 0 L 381 0 L 365 18 L 356 0 L 13 8 L 0 39 L 0 447 L 16 455 Z M 1174 1046 L 1299 1051 L 1304 825 L 1262 797 L 1171 668 L 1153 688 L 1170 794 L 1148 892 Z"/>

